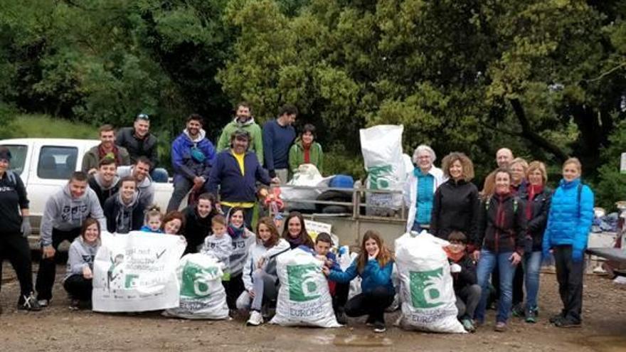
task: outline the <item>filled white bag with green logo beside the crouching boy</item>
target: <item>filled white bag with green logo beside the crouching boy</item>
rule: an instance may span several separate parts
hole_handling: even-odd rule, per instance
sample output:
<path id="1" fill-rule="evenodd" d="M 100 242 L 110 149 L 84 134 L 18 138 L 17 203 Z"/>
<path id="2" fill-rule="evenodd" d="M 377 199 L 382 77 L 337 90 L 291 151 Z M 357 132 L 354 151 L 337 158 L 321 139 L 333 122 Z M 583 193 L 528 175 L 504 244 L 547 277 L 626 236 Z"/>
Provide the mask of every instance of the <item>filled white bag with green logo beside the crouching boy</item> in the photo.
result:
<path id="1" fill-rule="evenodd" d="M 396 240 L 396 265 L 400 277 L 404 329 L 465 333 L 457 319 L 456 297 L 445 241 L 423 231 Z"/>

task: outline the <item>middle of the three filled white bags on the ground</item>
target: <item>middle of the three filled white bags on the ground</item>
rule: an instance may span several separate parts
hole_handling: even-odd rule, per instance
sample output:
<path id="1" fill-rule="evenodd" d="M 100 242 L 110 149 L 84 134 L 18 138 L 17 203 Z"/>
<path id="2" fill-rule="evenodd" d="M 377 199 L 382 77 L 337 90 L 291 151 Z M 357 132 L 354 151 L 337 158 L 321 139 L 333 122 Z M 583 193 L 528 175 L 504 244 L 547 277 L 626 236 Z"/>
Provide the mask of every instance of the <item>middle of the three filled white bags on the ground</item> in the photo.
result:
<path id="1" fill-rule="evenodd" d="M 276 258 L 280 281 L 276 315 L 270 323 L 282 326 L 336 328 L 328 281 L 322 263 L 311 253 L 294 249 Z"/>

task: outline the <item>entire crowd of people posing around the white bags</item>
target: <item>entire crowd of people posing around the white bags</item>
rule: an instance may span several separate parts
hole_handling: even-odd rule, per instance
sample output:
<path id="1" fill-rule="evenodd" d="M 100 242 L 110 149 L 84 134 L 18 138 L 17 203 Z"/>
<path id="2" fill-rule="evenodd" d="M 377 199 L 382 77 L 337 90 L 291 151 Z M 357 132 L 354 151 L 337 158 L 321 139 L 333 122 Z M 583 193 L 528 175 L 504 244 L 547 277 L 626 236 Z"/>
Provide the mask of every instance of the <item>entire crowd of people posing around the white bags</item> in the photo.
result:
<path id="1" fill-rule="evenodd" d="M 305 125 L 295 140 L 291 125 L 297 110 L 290 105 L 282 107 L 262 132 L 247 104 L 241 103 L 236 111 L 217 151 L 206 139 L 202 118 L 192 114 L 186 120 L 184 132 L 171 147 L 174 192 L 166 213 L 153 205 L 152 182 L 167 175 L 154 168 L 157 143 L 148 132 L 149 117 L 140 114 L 134 127 L 122 129 L 117 139 L 110 126 L 103 126 L 102 143 L 85 154 L 83 171 L 75 172 L 46 202 L 40 231 L 42 259 L 34 289 L 26 240 L 31 233 L 26 189 L 10 171 L 11 152 L 0 147 L 0 255 L 16 270 L 21 287 L 18 308 L 38 310 L 50 304 L 60 242 L 72 242 L 63 282 L 72 299 L 70 306 L 78 309 L 90 299 L 100 233 L 142 230 L 184 236 L 185 253 L 211 253 L 224 262 L 228 306 L 249 310 L 250 325 L 261 324 L 263 308 L 277 298 L 277 275 L 270 263 L 282 252 L 300 248 L 324 262 L 341 324 L 346 315 L 367 315 L 368 325 L 385 331 L 384 311 L 396 289 L 391 281 L 393 252 L 379 233 L 368 231 L 359 256 L 341 270 L 329 250 L 330 236 L 320 234 L 314 242 L 302 214 L 290 213 L 282 234 L 270 218 L 260 218 L 252 231 L 258 183 L 284 182 L 300 164 L 317 163 L 322 169 L 322 148 L 314 142 L 314 127 Z M 580 161 L 565 161 L 563 179 L 552 191 L 546 186 L 546 166 L 541 161 L 529 164 L 514 158 L 509 149 L 500 149 L 498 168 L 478 191 L 472 183 L 472 161 L 465 154 L 448 154 L 442 169 L 434 166 L 435 159 L 429 146 L 415 149 L 415 169 L 405 191 L 407 231 L 426 230 L 450 242 L 445 252 L 465 329 L 474 331 L 484 323 L 492 292 L 498 297 L 497 331 L 506 330 L 511 311 L 534 323 L 539 314 L 539 267 L 550 255 L 556 261 L 563 302 L 561 313 L 551 322 L 579 326 L 583 252 L 593 218 L 593 192 L 580 181 Z M 190 205 L 179 211 L 190 191 Z M 362 279 L 362 293 L 348 300 L 349 282 L 357 276 Z"/>

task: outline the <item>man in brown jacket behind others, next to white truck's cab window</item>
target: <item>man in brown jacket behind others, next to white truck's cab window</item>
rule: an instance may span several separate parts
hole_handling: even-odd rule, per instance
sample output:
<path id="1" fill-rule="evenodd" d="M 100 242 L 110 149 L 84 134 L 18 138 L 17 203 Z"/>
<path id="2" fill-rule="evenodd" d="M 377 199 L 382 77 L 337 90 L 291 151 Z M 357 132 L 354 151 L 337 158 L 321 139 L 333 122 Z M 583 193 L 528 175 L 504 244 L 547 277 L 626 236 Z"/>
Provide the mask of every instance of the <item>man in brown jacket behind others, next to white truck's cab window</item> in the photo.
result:
<path id="1" fill-rule="evenodd" d="M 115 145 L 115 129 L 110 124 L 103 124 L 99 131 L 100 144 L 85 153 L 80 169 L 87 174 L 95 174 L 100 160 L 105 157 L 115 160 L 117 166 L 130 165 L 130 156 L 126 148 Z"/>

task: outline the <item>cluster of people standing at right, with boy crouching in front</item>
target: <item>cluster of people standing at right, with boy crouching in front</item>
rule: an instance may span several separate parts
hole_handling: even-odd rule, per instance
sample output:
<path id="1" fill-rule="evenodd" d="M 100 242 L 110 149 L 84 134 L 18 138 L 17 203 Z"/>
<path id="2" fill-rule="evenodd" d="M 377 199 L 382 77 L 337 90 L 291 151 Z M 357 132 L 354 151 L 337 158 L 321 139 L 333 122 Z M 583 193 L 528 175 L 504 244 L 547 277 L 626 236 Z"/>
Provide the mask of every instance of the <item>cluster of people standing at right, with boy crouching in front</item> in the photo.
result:
<path id="1" fill-rule="evenodd" d="M 551 190 L 543 162 L 528 163 L 514 158 L 510 149 L 499 149 L 498 167 L 479 191 L 471 182 L 474 167 L 465 154 L 448 154 L 442 169 L 433 165 L 435 159 L 429 146 L 415 149 L 415 169 L 405 191 L 407 230 L 427 230 L 450 242 L 446 252 L 465 329 L 484 324 L 492 294 L 497 297 L 496 331 L 506 330 L 511 312 L 535 323 L 539 270 L 551 256 L 563 309 L 550 321 L 580 326 L 583 254 L 594 203 L 593 191 L 580 180 L 580 161 L 567 159 L 563 178 Z"/>

